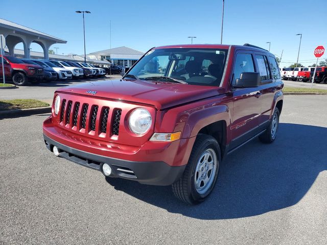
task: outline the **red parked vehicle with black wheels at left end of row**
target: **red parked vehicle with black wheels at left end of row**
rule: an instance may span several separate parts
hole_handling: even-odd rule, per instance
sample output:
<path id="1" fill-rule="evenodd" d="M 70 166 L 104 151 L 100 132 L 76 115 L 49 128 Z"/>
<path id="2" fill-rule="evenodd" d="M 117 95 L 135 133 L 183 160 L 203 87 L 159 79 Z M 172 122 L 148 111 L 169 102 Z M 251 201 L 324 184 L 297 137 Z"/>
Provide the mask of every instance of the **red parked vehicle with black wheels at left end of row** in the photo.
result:
<path id="1" fill-rule="evenodd" d="M 0 55 L 0 77 L 2 78 L 2 62 Z M 4 56 L 5 76 L 12 79 L 15 85 L 26 85 L 29 81 L 39 83 L 44 78 L 43 68 L 39 65 L 25 64 L 14 56 Z"/>

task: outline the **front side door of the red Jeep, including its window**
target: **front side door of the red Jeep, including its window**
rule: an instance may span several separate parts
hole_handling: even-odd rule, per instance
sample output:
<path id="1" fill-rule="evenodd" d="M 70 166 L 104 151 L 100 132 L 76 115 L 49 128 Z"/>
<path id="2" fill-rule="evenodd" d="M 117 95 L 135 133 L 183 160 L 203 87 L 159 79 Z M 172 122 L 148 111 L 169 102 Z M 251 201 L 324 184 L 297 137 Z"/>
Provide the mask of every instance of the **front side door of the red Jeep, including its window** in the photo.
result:
<path id="1" fill-rule="evenodd" d="M 235 57 L 232 85 L 240 78 L 242 72 L 259 72 L 255 67 L 252 51 L 237 51 Z M 258 133 L 261 104 L 261 92 L 258 87 L 237 88 L 233 91 L 230 149 Z"/>

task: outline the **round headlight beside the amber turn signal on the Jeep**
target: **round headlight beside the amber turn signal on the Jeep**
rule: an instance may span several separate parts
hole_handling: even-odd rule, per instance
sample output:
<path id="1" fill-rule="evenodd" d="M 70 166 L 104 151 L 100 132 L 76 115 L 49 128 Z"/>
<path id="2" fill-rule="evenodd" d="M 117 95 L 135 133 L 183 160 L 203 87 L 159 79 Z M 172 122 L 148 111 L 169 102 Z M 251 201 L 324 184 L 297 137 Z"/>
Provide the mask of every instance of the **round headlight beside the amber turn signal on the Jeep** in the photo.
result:
<path id="1" fill-rule="evenodd" d="M 129 116 L 129 128 L 135 134 L 145 134 L 152 124 L 150 112 L 144 108 L 135 109 Z"/>

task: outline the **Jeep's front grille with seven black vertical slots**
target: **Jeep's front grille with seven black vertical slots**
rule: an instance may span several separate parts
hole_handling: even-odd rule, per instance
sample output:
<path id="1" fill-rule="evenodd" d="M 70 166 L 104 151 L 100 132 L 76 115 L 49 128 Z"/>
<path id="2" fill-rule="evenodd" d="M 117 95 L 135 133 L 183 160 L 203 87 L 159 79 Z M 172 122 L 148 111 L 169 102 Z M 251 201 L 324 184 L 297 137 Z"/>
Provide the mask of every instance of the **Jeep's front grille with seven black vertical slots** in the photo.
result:
<path id="1" fill-rule="evenodd" d="M 81 133 L 119 135 L 122 109 L 62 100 L 60 124 Z M 103 137 L 103 136 L 101 136 Z"/>

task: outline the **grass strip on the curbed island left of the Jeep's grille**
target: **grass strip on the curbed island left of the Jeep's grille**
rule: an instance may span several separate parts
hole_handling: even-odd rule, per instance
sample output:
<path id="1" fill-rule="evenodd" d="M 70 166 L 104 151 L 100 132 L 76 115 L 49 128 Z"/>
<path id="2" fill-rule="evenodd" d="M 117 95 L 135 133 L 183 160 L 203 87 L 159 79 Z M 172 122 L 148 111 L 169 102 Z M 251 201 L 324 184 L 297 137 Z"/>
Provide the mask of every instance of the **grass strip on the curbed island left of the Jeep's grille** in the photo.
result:
<path id="1" fill-rule="evenodd" d="M 18 100 L 0 100 L 0 111 L 28 109 L 37 107 L 49 106 L 48 103 L 32 100 L 32 99 L 18 99 Z"/>

